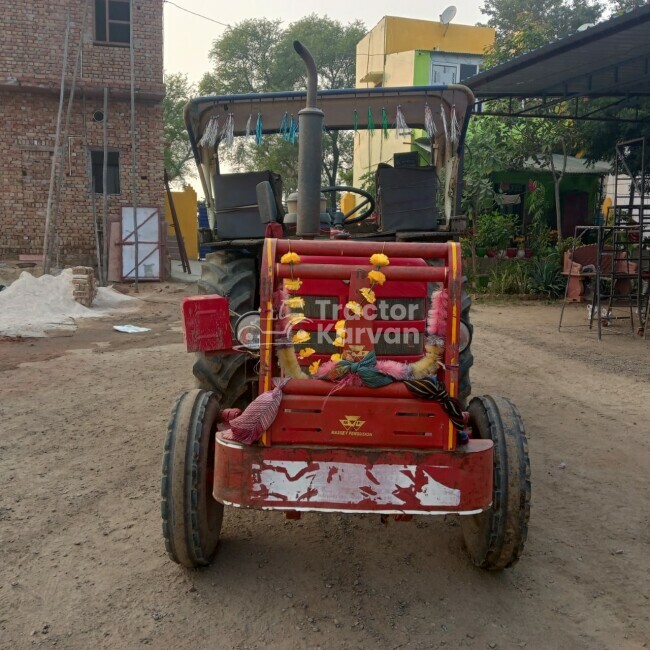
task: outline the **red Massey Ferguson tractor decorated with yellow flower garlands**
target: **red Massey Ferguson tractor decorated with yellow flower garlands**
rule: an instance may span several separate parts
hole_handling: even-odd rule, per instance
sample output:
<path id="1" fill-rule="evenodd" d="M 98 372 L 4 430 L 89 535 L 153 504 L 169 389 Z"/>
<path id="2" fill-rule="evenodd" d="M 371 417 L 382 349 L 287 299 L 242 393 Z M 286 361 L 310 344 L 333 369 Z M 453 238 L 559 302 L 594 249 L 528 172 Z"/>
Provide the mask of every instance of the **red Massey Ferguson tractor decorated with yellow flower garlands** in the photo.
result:
<path id="1" fill-rule="evenodd" d="M 199 388 L 176 400 L 167 430 L 167 551 L 187 567 L 209 564 L 224 506 L 288 518 L 458 514 L 473 562 L 509 567 L 527 534 L 527 442 L 509 400 L 468 401 L 470 300 L 462 219 L 452 216 L 472 93 L 318 92 L 314 61 L 295 45 L 306 94 L 203 97 L 186 108 L 215 252 L 200 295 L 183 302 Z M 428 164 L 381 165 L 376 197 L 321 188 L 324 121 L 371 131 L 372 142 L 382 114 L 423 130 Z M 219 168 L 220 145 L 268 133 L 299 140 L 288 211 L 278 175 Z M 362 200 L 347 214 L 324 210 L 322 193 L 342 189 Z"/>

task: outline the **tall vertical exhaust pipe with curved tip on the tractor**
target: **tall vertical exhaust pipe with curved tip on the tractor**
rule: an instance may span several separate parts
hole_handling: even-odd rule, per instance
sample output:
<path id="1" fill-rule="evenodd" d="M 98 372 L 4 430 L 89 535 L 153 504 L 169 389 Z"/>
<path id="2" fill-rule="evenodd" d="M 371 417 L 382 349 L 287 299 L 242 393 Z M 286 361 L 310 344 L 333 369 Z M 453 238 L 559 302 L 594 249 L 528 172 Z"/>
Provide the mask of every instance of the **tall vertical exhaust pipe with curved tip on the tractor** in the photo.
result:
<path id="1" fill-rule="evenodd" d="M 307 68 L 307 105 L 298 113 L 298 237 L 313 239 L 320 228 L 320 186 L 323 159 L 323 111 L 316 107 L 318 72 L 314 57 L 300 42 L 293 47 Z"/>

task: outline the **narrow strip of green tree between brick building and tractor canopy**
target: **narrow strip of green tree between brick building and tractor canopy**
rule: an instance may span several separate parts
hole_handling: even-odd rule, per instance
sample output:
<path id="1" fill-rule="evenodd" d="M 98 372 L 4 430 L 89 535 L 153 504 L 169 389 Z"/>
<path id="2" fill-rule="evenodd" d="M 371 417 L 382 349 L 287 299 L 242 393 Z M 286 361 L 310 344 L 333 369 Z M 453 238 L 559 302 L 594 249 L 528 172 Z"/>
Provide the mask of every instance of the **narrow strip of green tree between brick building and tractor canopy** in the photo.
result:
<path id="1" fill-rule="evenodd" d="M 167 94 L 163 99 L 163 125 L 165 132 L 165 169 L 170 180 L 184 181 L 192 149 L 185 128 L 183 109 L 192 98 L 195 89 L 187 75 L 165 75 Z"/>

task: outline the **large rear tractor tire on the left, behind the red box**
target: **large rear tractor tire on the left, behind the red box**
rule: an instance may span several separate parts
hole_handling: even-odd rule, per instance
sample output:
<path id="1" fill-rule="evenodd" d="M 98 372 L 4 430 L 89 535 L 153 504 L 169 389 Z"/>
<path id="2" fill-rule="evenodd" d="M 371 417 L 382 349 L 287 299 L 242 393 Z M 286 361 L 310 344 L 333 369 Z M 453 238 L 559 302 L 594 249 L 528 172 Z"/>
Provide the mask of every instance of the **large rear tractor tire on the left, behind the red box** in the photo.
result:
<path id="1" fill-rule="evenodd" d="M 257 309 L 257 263 L 244 251 L 218 251 L 201 263 L 199 295 L 228 298 L 231 326 L 239 316 Z M 206 355 L 194 362 L 196 385 L 216 394 L 222 409 L 246 408 L 255 397 L 255 362 L 243 353 Z"/>

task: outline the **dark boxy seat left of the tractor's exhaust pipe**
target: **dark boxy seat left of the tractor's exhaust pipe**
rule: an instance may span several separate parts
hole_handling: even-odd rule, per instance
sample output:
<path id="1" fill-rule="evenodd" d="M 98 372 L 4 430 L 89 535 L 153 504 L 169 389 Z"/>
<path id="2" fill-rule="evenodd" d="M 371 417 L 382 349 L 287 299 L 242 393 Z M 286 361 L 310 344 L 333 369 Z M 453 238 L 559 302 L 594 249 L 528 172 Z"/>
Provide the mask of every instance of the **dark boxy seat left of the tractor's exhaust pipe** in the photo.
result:
<path id="1" fill-rule="evenodd" d="M 280 220 L 282 178 L 271 171 L 215 174 L 214 194 L 217 236 L 219 239 L 263 239 L 266 223 L 260 217 L 257 186 L 269 182 L 273 189 Z"/>

